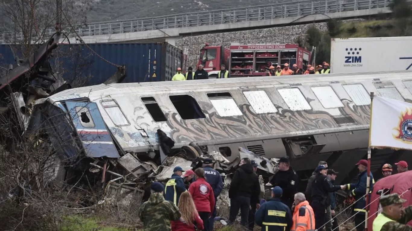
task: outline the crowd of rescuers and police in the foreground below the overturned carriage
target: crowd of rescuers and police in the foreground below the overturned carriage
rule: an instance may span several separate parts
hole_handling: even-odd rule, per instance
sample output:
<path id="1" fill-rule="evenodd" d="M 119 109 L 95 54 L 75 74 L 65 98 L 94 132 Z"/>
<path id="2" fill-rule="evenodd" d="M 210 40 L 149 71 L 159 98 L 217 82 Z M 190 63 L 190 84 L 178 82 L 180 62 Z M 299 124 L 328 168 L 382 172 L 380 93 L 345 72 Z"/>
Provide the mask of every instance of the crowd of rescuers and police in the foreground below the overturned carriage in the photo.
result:
<path id="1" fill-rule="evenodd" d="M 201 168 L 187 170 L 185 174 L 178 166 L 173 169 L 165 186 L 160 182 L 153 182 L 150 198 L 143 203 L 138 213 L 144 231 L 213 230 L 217 216 L 216 202 L 223 188 L 222 178 L 214 169 L 214 164 L 212 159 L 207 158 Z M 396 165 L 398 173 L 408 171 L 407 162 L 400 161 Z M 346 190 L 353 202 L 356 230 L 365 230 L 367 160 L 361 159 L 356 164 L 359 170 L 356 183 L 345 185 L 334 185 L 338 172 L 329 169 L 327 162 L 319 162 L 308 180 L 305 192 L 297 192 L 300 182 L 288 157 L 280 158 L 278 166 L 279 171 L 266 184 L 273 186 L 271 197 L 266 201 L 261 196 L 259 176 L 256 173 L 258 163 L 248 158 L 241 159 L 229 187 L 229 224 L 234 224 L 240 210 L 240 224 L 245 230 L 253 230 L 257 224 L 262 227 L 262 231 L 321 231 L 323 228 L 332 231 L 338 227 L 334 219 L 336 192 Z M 384 177 L 391 176 L 392 171 L 391 164 L 382 166 Z M 371 173 L 370 192 L 374 184 Z M 397 199 L 396 195 L 381 198 L 384 215 L 375 219 L 376 226 L 387 227 L 386 222 L 396 221 L 388 218 L 396 218 L 400 211 L 399 205 L 402 207 L 402 199 Z M 408 211 L 408 216 L 403 217 L 405 221 L 412 219 L 412 209 Z M 399 223 L 389 224 L 400 227 Z M 382 231 L 386 230 L 392 229 L 382 228 Z"/>

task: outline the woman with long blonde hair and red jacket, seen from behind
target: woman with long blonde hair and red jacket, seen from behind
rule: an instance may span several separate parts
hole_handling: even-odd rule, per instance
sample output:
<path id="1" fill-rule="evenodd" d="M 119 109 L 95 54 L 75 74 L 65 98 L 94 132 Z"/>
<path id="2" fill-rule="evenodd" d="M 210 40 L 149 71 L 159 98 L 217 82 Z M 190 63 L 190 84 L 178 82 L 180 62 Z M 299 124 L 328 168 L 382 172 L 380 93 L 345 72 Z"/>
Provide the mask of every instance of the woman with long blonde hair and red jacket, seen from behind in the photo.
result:
<path id="1" fill-rule="evenodd" d="M 195 229 L 204 229 L 203 221 L 197 213 L 196 206 L 189 192 L 180 194 L 178 208 L 180 219 L 172 221 L 172 231 L 195 231 Z"/>

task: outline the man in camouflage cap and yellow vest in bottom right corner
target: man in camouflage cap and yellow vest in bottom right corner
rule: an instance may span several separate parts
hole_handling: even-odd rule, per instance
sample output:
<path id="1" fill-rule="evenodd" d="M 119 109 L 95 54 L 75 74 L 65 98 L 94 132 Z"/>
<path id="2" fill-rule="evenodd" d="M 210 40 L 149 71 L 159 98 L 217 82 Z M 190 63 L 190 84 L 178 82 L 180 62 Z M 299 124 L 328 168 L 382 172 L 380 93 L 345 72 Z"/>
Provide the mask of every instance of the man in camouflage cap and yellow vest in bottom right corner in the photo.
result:
<path id="1" fill-rule="evenodd" d="M 407 223 L 412 220 L 412 206 L 402 208 L 405 199 L 401 199 L 397 193 L 382 196 L 379 203 L 382 205 L 382 213 L 378 214 L 372 223 L 373 231 L 412 231 Z"/>

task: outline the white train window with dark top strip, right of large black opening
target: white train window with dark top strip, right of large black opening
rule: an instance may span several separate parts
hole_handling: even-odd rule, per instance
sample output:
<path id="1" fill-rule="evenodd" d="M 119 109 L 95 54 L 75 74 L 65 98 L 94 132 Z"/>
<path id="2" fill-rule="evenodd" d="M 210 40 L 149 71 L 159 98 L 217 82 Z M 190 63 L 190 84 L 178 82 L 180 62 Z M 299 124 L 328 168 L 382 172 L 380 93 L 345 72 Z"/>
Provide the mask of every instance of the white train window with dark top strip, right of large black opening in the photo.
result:
<path id="1" fill-rule="evenodd" d="M 207 96 L 219 116 L 243 116 L 229 92 L 208 93 Z"/>

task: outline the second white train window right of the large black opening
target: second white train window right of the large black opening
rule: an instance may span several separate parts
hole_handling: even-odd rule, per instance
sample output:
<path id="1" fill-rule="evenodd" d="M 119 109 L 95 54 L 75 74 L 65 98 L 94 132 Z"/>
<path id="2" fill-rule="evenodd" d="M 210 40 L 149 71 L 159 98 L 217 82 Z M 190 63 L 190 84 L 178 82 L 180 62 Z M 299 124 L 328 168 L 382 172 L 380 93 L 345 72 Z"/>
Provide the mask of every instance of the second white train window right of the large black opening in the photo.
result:
<path id="1" fill-rule="evenodd" d="M 257 114 L 276 113 L 278 110 L 264 90 L 244 91 L 250 106 Z"/>

